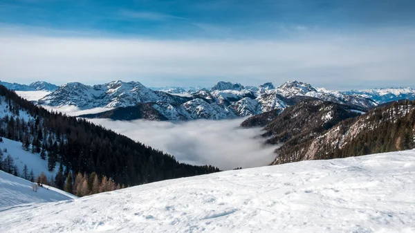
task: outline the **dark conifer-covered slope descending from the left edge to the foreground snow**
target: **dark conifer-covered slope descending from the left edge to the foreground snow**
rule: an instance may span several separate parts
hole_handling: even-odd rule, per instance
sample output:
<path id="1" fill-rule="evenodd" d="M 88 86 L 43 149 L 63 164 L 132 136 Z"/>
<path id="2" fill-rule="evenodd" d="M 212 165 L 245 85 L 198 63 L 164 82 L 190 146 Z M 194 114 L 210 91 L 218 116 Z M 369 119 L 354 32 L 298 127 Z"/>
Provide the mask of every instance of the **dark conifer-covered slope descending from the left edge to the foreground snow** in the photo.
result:
<path id="1" fill-rule="evenodd" d="M 62 113 L 49 112 L 0 86 L 0 136 L 57 162 L 77 174 L 106 176 L 119 185 L 140 185 L 169 178 L 219 171 L 209 165 L 194 166 L 174 156 L 135 142 L 109 129 Z M 8 114 L 10 113 L 10 114 Z"/>

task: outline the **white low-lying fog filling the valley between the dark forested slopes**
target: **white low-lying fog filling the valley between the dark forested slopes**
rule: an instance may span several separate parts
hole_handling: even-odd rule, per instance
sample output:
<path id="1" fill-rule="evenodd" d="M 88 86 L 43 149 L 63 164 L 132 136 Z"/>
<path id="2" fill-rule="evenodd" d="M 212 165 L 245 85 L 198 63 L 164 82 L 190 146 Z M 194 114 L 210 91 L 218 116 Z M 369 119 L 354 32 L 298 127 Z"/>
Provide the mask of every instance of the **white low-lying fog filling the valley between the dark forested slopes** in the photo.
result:
<path id="1" fill-rule="evenodd" d="M 98 113 L 109 109 L 77 109 L 75 106 L 50 108 L 68 115 Z M 246 118 L 232 120 L 192 120 L 188 122 L 156 122 L 149 120 L 113 121 L 92 119 L 133 140 L 170 153 L 178 161 L 193 165 L 214 165 L 220 169 L 259 167 L 275 158 L 275 146 L 264 145 L 264 138 L 254 138 L 260 128 L 243 129 Z"/>

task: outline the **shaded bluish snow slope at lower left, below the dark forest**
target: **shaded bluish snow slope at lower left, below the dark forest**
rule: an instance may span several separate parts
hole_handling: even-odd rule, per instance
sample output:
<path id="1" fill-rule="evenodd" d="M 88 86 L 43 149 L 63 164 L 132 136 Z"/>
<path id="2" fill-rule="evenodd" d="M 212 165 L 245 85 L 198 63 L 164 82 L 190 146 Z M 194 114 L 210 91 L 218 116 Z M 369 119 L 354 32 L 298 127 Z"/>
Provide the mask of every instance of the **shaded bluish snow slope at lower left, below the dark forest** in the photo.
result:
<path id="1" fill-rule="evenodd" d="M 54 187 L 49 187 L 48 185 L 38 187 L 37 192 L 34 192 L 33 184 L 23 178 L 0 171 L 0 212 L 32 205 L 27 205 L 28 203 L 68 201 L 77 198 L 72 194 L 68 194 Z M 7 232 L 7 230 L 0 230 L 0 232 Z"/>

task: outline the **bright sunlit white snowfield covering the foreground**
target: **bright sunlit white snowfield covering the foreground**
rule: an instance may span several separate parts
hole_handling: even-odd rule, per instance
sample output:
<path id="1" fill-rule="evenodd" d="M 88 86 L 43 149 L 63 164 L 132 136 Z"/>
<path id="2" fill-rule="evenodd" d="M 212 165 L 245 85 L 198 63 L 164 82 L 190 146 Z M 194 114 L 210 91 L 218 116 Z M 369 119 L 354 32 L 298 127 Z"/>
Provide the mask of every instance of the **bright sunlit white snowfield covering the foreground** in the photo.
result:
<path id="1" fill-rule="evenodd" d="M 165 180 L 0 214 L 0 232 L 414 232 L 415 150 Z"/>

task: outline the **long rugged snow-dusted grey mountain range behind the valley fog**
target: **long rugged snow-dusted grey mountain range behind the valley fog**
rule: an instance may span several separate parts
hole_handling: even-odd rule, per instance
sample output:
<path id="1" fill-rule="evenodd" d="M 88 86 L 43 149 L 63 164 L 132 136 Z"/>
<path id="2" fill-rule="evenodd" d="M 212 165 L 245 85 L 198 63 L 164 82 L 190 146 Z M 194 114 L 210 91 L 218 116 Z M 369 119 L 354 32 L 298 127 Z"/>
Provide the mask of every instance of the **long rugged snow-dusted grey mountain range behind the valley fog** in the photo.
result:
<path id="1" fill-rule="evenodd" d="M 255 91 L 257 90 L 257 91 Z M 186 95 L 154 91 L 139 82 L 115 81 L 108 84 L 86 86 L 68 83 L 37 102 L 41 105 L 73 105 L 80 109 L 95 107 L 124 108 L 109 110 L 102 114 L 85 117 L 116 118 L 118 120 L 194 120 L 235 118 L 265 113 L 271 110 L 282 112 L 304 98 L 317 98 L 345 104 L 354 109 L 366 111 L 376 103 L 355 95 L 338 91 L 317 89 L 310 84 L 291 81 L 275 88 L 272 83 L 257 89 L 245 88 L 232 82 L 218 82 L 207 90 L 200 89 Z M 134 106 L 134 108 L 131 108 Z M 149 113 L 142 112 L 147 109 Z M 151 109 L 151 110 L 150 110 Z M 138 113 L 128 113 L 137 111 Z M 123 113 L 124 116 L 121 114 Z"/>

